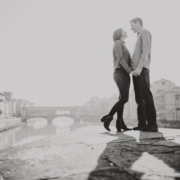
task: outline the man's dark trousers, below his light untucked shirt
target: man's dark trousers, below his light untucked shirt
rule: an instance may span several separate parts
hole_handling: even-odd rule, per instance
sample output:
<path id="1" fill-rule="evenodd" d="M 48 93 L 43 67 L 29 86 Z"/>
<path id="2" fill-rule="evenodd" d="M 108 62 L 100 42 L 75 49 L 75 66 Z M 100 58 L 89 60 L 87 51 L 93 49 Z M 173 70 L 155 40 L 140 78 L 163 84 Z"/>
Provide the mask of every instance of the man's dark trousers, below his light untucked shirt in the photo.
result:
<path id="1" fill-rule="evenodd" d="M 137 103 L 138 126 L 157 126 L 156 109 L 150 90 L 149 70 L 142 69 L 140 76 L 133 76 L 135 100 Z"/>

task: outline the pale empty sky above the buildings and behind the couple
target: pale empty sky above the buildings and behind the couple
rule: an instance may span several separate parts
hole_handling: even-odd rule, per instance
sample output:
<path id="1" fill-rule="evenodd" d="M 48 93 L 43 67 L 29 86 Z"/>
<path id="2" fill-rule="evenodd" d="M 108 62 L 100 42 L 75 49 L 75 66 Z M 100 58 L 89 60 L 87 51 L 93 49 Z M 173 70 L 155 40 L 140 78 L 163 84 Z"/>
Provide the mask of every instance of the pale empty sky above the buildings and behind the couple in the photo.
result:
<path id="1" fill-rule="evenodd" d="M 118 93 L 112 35 L 124 29 L 132 54 L 135 17 L 152 34 L 150 82 L 180 86 L 179 8 L 179 0 L 0 0 L 0 92 L 35 106 L 110 98 Z"/>

